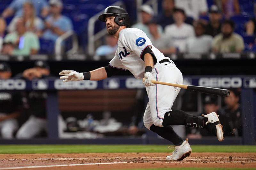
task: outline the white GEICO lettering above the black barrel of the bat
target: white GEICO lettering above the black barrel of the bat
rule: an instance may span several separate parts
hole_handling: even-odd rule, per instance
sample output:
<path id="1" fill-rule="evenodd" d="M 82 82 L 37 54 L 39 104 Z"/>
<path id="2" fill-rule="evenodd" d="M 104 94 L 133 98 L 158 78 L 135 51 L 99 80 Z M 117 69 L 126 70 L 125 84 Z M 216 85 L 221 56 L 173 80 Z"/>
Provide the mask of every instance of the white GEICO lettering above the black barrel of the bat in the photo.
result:
<path id="1" fill-rule="evenodd" d="M 206 87 L 239 88 L 242 87 L 242 78 L 200 78 L 198 84 Z"/>

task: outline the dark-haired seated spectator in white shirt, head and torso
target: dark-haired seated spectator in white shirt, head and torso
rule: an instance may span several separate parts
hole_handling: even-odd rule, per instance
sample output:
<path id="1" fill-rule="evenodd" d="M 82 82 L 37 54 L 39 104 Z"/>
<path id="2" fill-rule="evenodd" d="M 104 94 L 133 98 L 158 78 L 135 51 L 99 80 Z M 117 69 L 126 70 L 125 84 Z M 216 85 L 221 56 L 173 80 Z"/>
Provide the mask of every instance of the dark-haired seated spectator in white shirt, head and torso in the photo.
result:
<path id="1" fill-rule="evenodd" d="M 185 52 L 186 41 L 195 36 L 194 28 L 184 23 L 186 16 L 182 9 L 175 8 L 173 18 L 175 23 L 165 27 L 165 36 L 173 41 L 179 52 Z"/>

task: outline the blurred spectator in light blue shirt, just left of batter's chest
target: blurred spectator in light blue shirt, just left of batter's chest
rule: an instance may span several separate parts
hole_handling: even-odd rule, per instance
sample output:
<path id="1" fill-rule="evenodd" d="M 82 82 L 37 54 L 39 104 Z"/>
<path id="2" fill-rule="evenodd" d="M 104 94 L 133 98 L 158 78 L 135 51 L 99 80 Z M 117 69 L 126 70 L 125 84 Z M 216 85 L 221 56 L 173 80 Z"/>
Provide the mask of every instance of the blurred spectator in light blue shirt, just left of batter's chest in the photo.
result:
<path id="1" fill-rule="evenodd" d="M 106 55 L 111 55 L 111 59 L 113 58 L 113 55 L 116 53 L 117 49 L 117 39 L 113 35 L 106 35 L 106 44 L 107 45 L 102 45 L 98 47 L 95 51 L 95 56 L 94 59 L 97 60 L 99 56 L 106 56 Z M 100 58 L 99 58 L 100 59 Z"/>

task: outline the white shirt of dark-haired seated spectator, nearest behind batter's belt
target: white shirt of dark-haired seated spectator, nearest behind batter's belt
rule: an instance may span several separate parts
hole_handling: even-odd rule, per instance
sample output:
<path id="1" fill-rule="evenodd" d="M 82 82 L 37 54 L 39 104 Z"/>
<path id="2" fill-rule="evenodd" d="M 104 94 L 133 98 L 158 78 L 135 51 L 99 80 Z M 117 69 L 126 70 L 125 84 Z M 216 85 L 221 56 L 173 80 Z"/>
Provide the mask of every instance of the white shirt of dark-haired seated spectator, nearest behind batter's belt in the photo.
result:
<path id="1" fill-rule="evenodd" d="M 195 37 L 193 26 L 186 23 L 183 23 L 180 27 L 176 24 L 166 26 L 164 34 L 172 40 L 175 47 L 179 48 L 179 52 L 185 52 L 186 42 L 189 38 Z"/>

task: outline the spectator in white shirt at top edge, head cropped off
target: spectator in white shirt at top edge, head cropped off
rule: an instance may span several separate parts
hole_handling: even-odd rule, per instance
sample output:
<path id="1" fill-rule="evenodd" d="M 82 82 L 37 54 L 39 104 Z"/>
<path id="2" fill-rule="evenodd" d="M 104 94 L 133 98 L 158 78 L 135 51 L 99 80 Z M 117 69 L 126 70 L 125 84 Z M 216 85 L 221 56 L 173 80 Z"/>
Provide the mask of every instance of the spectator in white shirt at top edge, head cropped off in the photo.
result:
<path id="1" fill-rule="evenodd" d="M 186 16 L 198 20 L 200 15 L 207 15 L 206 0 L 175 0 L 175 7 L 183 9 Z"/>

